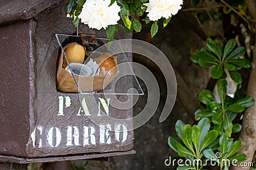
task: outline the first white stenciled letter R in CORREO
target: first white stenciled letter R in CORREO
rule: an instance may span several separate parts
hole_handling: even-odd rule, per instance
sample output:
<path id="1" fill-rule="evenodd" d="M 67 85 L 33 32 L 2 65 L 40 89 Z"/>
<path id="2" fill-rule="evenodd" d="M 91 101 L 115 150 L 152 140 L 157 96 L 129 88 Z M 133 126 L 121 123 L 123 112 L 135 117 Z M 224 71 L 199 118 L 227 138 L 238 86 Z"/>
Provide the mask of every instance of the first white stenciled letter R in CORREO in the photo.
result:
<path id="1" fill-rule="evenodd" d="M 72 132 L 74 129 L 74 134 Z M 68 126 L 67 127 L 67 146 L 73 146 L 73 138 L 74 138 L 74 145 L 79 146 L 79 130 L 76 126 Z"/>

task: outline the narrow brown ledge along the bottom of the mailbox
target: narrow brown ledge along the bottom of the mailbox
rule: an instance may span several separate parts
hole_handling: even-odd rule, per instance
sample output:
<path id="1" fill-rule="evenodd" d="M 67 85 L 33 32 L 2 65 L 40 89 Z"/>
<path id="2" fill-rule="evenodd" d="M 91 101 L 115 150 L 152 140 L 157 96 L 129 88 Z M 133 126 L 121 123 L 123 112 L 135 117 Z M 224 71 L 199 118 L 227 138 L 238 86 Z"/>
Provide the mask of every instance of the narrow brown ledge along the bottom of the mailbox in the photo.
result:
<path id="1" fill-rule="evenodd" d="M 125 152 L 109 152 L 109 153 L 92 153 L 84 155 L 67 155 L 63 157 L 42 157 L 42 158 L 21 158 L 21 157 L 11 157 L 0 155 L 0 162 L 13 162 L 17 164 L 30 164 L 37 162 L 62 162 L 68 160 L 86 160 L 86 159 L 97 159 L 102 157 L 114 157 L 120 155 L 131 155 L 135 154 L 134 150 L 129 150 Z"/>

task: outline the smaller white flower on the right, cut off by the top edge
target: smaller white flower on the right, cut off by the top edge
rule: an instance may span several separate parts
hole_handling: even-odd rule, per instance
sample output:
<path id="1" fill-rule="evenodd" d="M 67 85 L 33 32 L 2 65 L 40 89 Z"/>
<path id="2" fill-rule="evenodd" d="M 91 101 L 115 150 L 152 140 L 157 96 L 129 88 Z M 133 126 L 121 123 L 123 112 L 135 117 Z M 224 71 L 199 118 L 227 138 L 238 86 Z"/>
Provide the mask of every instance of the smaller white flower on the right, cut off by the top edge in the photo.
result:
<path id="1" fill-rule="evenodd" d="M 154 21 L 176 15 L 181 9 L 181 4 L 183 4 L 182 0 L 149 0 L 145 6 L 148 7 L 146 12 L 148 12 L 149 19 Z"/>

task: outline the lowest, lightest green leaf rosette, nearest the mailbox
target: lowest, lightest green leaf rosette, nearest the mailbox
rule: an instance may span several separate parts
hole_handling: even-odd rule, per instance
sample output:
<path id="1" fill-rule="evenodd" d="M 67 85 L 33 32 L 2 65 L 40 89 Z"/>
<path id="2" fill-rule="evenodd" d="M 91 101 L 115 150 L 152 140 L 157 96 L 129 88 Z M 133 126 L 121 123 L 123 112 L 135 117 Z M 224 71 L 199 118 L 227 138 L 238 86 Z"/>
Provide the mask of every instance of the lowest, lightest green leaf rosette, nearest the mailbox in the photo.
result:
<path id="1" fill-rule="evenodd" d="M 188 157 L 192 160 L 202 159 L 204 150 L 214 143 L 218 137 L 217 131 L 209 131 L 210 126 L 209 118 L 202 118 L 198 122 L 198 125 L 193 125 L 193 127 L 188 124 L 184 125 L 184 123 L 179 120 L 175 124 L 175 129 L 177 134 L 179 134 L 179 138 L 181 137 L 182 143 L 170 136 L 168 138 L 168 145 L 177 152 L 180 157 Z M 213 146 L 214 145 L 211 145 L 211 147 Z M 199 164 L 197 166 L 199 166 Z M 189 168 L 195 169 L 196 167 Z"/>

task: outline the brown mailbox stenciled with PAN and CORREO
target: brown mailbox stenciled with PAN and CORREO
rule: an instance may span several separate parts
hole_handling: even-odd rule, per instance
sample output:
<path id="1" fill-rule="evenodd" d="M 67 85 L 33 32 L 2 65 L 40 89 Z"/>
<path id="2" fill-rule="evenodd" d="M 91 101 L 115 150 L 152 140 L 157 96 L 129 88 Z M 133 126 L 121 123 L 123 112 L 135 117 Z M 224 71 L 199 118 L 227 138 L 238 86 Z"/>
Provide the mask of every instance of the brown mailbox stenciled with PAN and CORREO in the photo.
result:
<path id="1" fill-rule="evenodd" d="M 57 90 L 60 47 L 55 34 L 71 35 L 77 31 L 72 19 L 66 17 L 67 3 L 60 0 L 1 3 L 0 161 L 27 164 L 134 153 L 133 131 L 120 132 L 125 124 L 109 127 L 102 119 L 99 126 L 90 119 L 91 115 L 100 119 L 104 114 L 131 118 L 132 108 L 119 110 L 109 104 L 116 99 L 125 101 L 127 96 L 112 99 L 111 95 L 100 93 L 81 96 Z M 95 33 L 99 38 L 105 36 L 104 31 Z M 122 25 L 116 36 L 120 38 L 131 38 Z M 132 60 L 131 55 L 126 56 Z M 127 86 L 131 84 L 123 84 L 122 88 L 129 89 Z M 90 103 L 90 99 L 94 102 Z"/>

